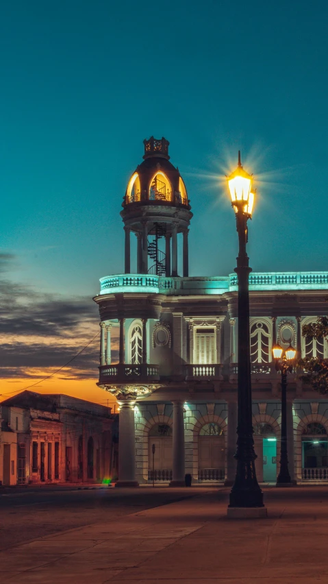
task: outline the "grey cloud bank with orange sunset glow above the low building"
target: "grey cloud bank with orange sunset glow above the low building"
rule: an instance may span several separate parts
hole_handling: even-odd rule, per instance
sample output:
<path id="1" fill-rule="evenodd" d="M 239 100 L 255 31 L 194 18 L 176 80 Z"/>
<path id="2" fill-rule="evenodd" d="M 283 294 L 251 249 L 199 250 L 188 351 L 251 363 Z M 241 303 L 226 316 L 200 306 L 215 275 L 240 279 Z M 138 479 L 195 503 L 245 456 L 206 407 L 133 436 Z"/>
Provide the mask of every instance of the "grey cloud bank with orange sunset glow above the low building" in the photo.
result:
<path id="1" fill-rule="evenodd" d="M 9 271 L 14 258 L 0 254 L 0 271 Z M 91 297 L 66 298 L 42 294 L 23 282 L 0 282 L 1 378 L 44 378 L 96 335 L 59 375 L 66 380 L 97 377 L 99 332 L 98 308 Z M 114 354 L 116 345 L 113 338 Z"/>

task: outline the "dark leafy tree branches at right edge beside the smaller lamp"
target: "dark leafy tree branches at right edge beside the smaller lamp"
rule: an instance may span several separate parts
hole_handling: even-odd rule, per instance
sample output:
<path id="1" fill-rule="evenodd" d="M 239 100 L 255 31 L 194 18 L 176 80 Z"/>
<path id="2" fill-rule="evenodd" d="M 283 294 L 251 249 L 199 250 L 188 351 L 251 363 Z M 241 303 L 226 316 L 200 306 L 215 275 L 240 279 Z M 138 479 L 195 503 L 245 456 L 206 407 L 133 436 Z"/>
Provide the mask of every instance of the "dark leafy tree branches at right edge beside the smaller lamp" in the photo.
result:
<path id="1" fill-rule="evenodd" d="M 310 339 L 326 339 L 328 341 L 328 317 L 318 317 L 316 322 L 302 327 L 303 337 Z M 310 385 L 318 393 L 328 393 L 328 359 L 320 357 L 305 357 L 299 359 L 299 367 L 304 369 L 300 379 Z"/>

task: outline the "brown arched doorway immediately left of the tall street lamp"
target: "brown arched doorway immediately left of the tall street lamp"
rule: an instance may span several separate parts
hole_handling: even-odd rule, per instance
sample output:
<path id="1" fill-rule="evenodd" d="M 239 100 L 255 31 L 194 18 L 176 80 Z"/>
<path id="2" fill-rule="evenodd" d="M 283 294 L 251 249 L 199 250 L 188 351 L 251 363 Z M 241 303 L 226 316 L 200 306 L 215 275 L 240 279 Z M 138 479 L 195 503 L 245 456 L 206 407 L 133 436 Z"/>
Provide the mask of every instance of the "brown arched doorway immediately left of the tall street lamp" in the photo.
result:
<path id="1" fill-rule="evenodd" d="M 225 436 L 215 422 L 205 424 L 198 440 L 198 480 L 224 480 Z"/>

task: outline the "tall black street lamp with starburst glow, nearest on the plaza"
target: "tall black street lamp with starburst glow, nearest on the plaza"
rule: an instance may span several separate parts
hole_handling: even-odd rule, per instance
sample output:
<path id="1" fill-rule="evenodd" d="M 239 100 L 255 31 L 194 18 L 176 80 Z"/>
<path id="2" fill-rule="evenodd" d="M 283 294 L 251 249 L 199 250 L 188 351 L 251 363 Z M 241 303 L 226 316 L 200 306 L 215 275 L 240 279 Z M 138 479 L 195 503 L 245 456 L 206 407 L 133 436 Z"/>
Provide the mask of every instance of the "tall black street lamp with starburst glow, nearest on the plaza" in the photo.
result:
<path id="1" fill-rule="evenodd" d="M 257 483 L 252 425 L 251 352 L 249 341 L 249 257 L 247 221 L 251 219 L 254 191 L 252 176 L 242 168 L 240 152 L 238 167 L 227 177 L 231 204 L 236 213 L 239 254 L 235 271 L 238 275 L 238 426 L 236 478 L 231 489 L 228 515 L 266 516 L 263 493 Z M 260 509 L 262 508 L 262 509 Z M 248 511 L 246 512 L 245 509 Z M 253 513 L 251 511 L 253 509 Z"/>

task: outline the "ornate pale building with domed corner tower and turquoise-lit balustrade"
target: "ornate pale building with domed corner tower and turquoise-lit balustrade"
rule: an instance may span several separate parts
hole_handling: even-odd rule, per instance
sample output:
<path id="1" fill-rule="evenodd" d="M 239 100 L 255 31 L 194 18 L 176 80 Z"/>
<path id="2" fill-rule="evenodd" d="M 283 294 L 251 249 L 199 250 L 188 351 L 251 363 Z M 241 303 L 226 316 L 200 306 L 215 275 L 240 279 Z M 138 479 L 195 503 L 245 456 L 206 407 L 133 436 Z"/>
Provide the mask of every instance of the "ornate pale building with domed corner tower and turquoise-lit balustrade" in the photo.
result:
<path id="1" fill-rule="evenodd" d="M 116 396 L 118 487 L 153 480 L 231 484 L 237 426 L 237 281 L 189 276 L 192 212 L 168 141 L 144 141 L 123 197 L 125 271 L 101 278 L 99 387 Z M 132 240 L 136 236 L 136 243 Z M 136 253 L 134 253 L 134 251 Z M 233 266 L 231 266 L 231 269 Z M 273 344 L 327 357 L 325 339 L 301 335 L 325 314 L 328 272 L 251 273 L 250 333 L 257 478 L 279 472 L 280 374 Z M 119 334 L 118 362 L 111 332 Z M 288 376 L 289 470 L 298 483 L 328 480 L 328 400 Z"/>

